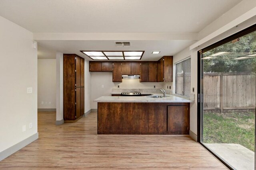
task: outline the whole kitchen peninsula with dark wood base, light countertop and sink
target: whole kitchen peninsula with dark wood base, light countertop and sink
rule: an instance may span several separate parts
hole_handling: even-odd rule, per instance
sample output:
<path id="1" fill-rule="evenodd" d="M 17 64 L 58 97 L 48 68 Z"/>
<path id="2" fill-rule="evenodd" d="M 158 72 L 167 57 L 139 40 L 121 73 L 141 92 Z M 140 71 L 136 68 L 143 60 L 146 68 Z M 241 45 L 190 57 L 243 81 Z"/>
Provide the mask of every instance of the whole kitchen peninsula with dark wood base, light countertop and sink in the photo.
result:
<path id="1" fill-rule="evenodd" d="M 94 102 L 98 102 L 98 135 L 189 134 L 192 100 L 168 94 L 166 98 L 102 96 Z"/>

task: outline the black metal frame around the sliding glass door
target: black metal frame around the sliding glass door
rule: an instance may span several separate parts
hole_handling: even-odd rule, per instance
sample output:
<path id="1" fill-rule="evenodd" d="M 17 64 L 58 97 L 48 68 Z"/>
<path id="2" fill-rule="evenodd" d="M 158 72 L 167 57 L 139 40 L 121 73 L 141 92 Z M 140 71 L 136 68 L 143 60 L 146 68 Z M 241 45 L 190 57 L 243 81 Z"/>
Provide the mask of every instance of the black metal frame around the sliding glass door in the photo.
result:
<path id="1" fill-rule="evenodd" d="M 200 143 L 200 145 L 202 145 L 205 149 L 207 149 L 211 154 L 213 154 L 218 160 L 220 160 L 220 162 L 222 162 L 226 167 L 234 170 L 235 168 L 232 167 L 230 164 L 228 164 L 227 162 L 225 162 L 223 159 L 220 158 L 220 156 L 218 156 L 216 153 L 214 153 L 212 150 L 210 150 L 208 147 L 206 147 L 202 142 L 201 142 L 201 137 L 202 137 L 202 129 L 201 129 L 201 124 L 202 124 L 202 117 L 201 117 L 201 113 L 203 111 L 203 98 L 202 98 L 202 94 L 201 93 L 201 87 L 203 88 L 203 84 L 202 84 L 202 80 L 203 80 L 203 76 L 201 75 L 201 72 L 203 71 L 203 62 L 201 60 L 201 54 L 209 51 L 211 49 L 214 49 L 215 47 L 218 47 L 220 45 L 223 45 L 225 43 L 228 43 L 234 39 L 237 39 L 239 37 L 242 37 L 248 33 L 252 33 L 256 31 L 256 24 L 243 29 L 242 31 L 239 31 L 238 33 L 235 33 L 233 35 L 230 35 L 229 37 L 226 37 L 212 45 L 209 45 L 208 47 L 205 47 L 204 49 L 201 49 L 198 51 L 198 60 L 197 60 L 197 92 L 198 92 L 198 96 L 197 96 L 197 141 L 198 143 Z M 255 108 L 255 113 L 256 113 L 256 108 Z M 255 126 L 256 127 L 256 126 Z M 255 135 L 256 135 L 256 128 L 255 128 Z M 256 140 L 254 140 L 254 149 L 256 150 Z M 256 169 L 256 154 L 254 153 L 254 168 Z"/>

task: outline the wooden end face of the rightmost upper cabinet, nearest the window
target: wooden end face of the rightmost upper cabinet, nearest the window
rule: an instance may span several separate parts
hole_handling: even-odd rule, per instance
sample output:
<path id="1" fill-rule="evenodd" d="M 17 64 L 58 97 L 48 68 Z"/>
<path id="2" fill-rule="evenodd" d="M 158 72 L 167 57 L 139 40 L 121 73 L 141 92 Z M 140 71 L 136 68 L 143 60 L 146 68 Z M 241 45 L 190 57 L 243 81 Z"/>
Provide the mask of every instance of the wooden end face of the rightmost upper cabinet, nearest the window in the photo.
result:
<path id="1" fill-rule="evenodd" d="M 172 56 L 164 56 L 164 82 L 172 82 L 173 79 L 173 61 Z"/>

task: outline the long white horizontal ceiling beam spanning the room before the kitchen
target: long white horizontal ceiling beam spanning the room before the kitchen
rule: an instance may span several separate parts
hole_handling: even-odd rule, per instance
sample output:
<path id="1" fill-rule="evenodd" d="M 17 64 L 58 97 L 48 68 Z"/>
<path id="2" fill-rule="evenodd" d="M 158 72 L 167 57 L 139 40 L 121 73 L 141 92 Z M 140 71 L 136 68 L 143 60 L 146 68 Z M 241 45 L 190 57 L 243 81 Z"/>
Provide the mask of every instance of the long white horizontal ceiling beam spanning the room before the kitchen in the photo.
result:
<path id="1" fill-rule="evenodd" d="M 34 40 L 198 40 L 198 33 L 34 33 Z"/>

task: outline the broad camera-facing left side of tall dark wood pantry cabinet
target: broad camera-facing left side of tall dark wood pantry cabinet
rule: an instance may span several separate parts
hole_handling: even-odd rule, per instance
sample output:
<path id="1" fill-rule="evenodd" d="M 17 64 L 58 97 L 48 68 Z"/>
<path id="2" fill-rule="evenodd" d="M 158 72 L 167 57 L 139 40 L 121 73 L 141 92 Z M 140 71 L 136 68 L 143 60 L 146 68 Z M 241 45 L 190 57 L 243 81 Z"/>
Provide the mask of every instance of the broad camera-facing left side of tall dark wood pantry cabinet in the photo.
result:
<path id="1" fill-rule="evenodd" d="M 75 84 L 76 84 L 75 55 L 63 55 L 63 117 L 64 120 L 75 119 Z"/>

